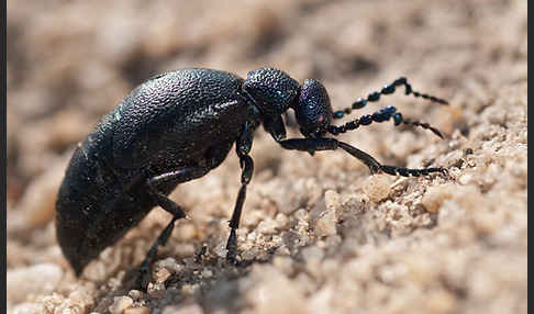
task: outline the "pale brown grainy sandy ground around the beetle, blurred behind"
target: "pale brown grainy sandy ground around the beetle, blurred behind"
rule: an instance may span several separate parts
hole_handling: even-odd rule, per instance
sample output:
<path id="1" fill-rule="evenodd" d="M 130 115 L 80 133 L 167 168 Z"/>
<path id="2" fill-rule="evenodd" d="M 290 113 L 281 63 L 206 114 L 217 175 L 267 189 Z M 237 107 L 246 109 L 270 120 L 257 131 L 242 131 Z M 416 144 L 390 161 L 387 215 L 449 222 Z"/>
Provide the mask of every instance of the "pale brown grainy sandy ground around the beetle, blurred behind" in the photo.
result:
<path id="1" fill-rule="evenodd" d="M 149 4 L 148 4 L 149 3 Z M 8 1 L 8 313 L 526 313 L 527 1 Z M 234 153 L 171 198 L 177 224 L 147 291 L 133 273 L 169 216 L 154 210 L 75 278 L 55 239 L 70 154 L 147 77 L 183 67 L 321 80 L 334 109 L 407 76 L 396 105 L 431 132 L 345 134 L 386 164 L 283 152 L 258 130 L 240 259 L 224 260 Z M 297 136 L 293 130 L 291 134 Z"/>

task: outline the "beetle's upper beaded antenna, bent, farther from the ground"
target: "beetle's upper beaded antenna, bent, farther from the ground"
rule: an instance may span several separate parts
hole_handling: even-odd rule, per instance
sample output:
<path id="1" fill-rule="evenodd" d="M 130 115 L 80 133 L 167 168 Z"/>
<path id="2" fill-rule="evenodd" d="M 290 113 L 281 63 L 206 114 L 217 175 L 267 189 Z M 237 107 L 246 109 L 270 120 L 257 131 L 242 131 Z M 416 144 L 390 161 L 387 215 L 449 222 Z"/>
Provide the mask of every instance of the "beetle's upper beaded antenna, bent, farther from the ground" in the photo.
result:
<path id="1" fill-rule="evenodd" d="M 412 94 L 413 97 L 421 97 L 423 99 L 430 100 L 432 102 L 437 102 L 441 104 L 448 104 L 446 100 L 443 100 L 441 98 L 426 94 L 426 93 L 421 93 L 419 91 L 414 91 L 412 89 L 412 86 L 408 82 L 405 77 L 400 77 L 396 79 L 392 83 L 385 85 L 380 91 L 375 91 L 371 92 L 367 96 L 366 99 L 364 98 L 358 98 L 351 106 L 347 106 L 343 110 L 338 110 L 334 112 L 334 119 L 342 119 L 345 114 L 351 114 L 351 112 L 355 109 L 361 109 L 367 105 L 367 102 L 376 102 L 380 99 L 380 96 L 382 94 L 392 94 L 396 92 L 397 87 L 404 86 L 404 94 Z"/>

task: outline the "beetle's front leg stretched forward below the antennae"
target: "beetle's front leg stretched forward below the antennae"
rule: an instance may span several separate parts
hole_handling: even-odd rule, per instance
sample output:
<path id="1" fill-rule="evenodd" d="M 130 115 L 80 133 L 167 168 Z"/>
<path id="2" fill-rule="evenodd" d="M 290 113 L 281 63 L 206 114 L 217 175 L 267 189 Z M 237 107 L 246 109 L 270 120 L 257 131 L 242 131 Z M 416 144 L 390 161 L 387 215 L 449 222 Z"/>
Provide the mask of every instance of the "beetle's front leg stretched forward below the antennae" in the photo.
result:
<path id="1" fill-rule="evenodd" d="M 369 167 L 371 173 L 377 173 L 379 171 L 386 172 L 391 176 L 414 176 L 419 177 L 421 175 L 426 176 L 432 172 L 447 173 L 447 170 L 442 167 L 432 167 L 423 169 L 409 169 L 397 166 L 381 165 L 369 154 L 335 138 L 290 138 L 279 142 L 280 145 L 286 149 L 294 149 L 301 152 L 315 152 L 315 150 L 335 150 L 337 147 L 347 152 L 352 156 L 359 159 L 361 162 Z"/>

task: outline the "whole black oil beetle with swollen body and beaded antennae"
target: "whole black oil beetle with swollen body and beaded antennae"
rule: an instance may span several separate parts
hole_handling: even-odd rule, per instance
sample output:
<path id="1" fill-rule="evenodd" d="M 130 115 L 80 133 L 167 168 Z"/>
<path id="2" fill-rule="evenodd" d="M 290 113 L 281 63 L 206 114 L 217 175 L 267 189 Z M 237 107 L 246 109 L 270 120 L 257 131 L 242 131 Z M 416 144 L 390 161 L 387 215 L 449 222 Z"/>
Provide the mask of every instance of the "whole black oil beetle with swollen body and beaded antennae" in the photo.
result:
<path id="1" fill-rule="evenodd" d="M 353 109 L 376 102 L 403 87 L 405 94 L 447 102 L 413 91 L 405 78 L 333 111 L 323 85 L 313 79 L 301 86 L 276 68 L 233 74 L 193 68 L 155 76 L 135 88 L 105 115 L 74 152 L 56 203 L 57 239 L 77 276 L 105 247 L 113 245 L 156 205 L 173 214 L 141 266 L 146 273 L 159 245 L 169 238 L 185 210 L 167 198 L 179 184 L 205 176 L 226 158 L 235 143 L 241 161 L 241 189 L 230 220 L 227 260 L 236 262 L 236 229 L 254 162 L 248 155 L 254 131 L 265 131 L 285 149 L 308 152 L 341 148 L 366 164 L 372 173 L 421 176 L 444 168 L 408 169 L 386 166 L 368 154 L 327 134 L 338 135 L 360 125 L 393 120 L 421 126 L 442 136 L 427 123 L 402 117 L 387 106 L 343 125 L 332 121 Z M 282 114 L 292 109 L 303 138 L 286 138 Z"/>

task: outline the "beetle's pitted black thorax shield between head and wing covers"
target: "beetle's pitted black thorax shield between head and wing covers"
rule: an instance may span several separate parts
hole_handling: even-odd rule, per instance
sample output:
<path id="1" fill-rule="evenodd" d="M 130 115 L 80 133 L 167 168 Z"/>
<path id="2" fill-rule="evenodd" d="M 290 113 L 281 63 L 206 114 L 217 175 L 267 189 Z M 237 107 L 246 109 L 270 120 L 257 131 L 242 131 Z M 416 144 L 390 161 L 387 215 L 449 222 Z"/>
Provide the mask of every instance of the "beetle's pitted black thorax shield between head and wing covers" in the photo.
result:
<path id="1" fill-rule="evenodd" d="M 249 71 L 245 80 L 245 91 L 266 117 L 286 112 L 297 100 L 299 89 L 300 85 L 294 79 L 275 68 Z"/>

